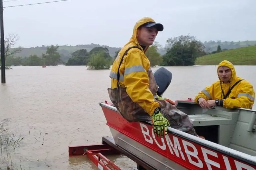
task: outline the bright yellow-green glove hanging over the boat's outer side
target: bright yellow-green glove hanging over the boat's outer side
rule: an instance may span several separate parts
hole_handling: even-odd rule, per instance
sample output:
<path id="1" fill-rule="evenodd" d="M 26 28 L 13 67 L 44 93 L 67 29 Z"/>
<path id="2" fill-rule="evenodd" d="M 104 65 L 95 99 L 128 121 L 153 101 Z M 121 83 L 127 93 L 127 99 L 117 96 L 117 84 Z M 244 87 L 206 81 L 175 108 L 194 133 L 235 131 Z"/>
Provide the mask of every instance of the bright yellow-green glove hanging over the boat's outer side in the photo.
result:
<path id="1" fill-rule="evenodd" d="M 160 108 L 156 108 L 156 110 L 152 116 L 154 133 L 163 138 L 164 134 L 167 135 L 167 126 L 170 126 L 170 123 L 159 111 L 161 110 Z"/>

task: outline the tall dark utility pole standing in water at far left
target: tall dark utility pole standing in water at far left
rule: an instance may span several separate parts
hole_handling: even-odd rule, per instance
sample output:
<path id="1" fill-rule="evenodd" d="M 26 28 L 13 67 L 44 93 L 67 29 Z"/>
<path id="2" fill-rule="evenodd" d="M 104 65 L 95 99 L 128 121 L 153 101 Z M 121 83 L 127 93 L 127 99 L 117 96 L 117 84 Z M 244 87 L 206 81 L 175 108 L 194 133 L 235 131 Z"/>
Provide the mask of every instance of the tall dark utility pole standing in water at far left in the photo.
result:
<path id="1" fill-rule="evenodd" d="M 5 44 L 4 44 L 4 9 L 3 0 L 0 0 L 0 24 L 1 24 L 1 72 L 2 83 L 5 83 Z"/>

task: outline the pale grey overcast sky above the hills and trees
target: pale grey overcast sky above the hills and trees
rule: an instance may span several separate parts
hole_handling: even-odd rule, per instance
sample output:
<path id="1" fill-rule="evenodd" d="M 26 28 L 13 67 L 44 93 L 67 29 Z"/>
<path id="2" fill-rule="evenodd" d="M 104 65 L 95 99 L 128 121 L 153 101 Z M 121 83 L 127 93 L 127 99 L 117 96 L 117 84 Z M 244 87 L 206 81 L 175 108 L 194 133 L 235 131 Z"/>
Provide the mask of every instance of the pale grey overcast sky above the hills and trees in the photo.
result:
<path id="1" fill-rule="evenodd" d="M 10 0 L 4 0 L 10 1 Z M 4 6 L 55 0 L 18 0 Z M 122 47 L 137 20 L 152 17 L 164 25 L 156 41 L 190 33 L 204 41 L 256 40 L 256 0 L 70 0 L 5 8 L 5 36 L 16 46 L 100 44 Z"/>

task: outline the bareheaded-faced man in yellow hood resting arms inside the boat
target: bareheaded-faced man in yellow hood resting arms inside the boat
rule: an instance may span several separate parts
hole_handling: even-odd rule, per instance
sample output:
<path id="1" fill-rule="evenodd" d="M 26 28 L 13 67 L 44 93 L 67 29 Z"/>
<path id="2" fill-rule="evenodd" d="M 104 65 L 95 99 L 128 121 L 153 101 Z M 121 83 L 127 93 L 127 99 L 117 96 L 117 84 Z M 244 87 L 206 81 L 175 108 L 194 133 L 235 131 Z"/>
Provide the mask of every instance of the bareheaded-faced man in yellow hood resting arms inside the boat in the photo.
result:
<path id="1" fill-rule="evenodd" d="M 227 60 L 218 65 L 217 72 L 219 80 L 201 91 L 195 97 L 195 102 L 202 108 L 223 106 L 252 109 L 255 99 L 252 84 L 238 77 L 233 64 Z"/>

